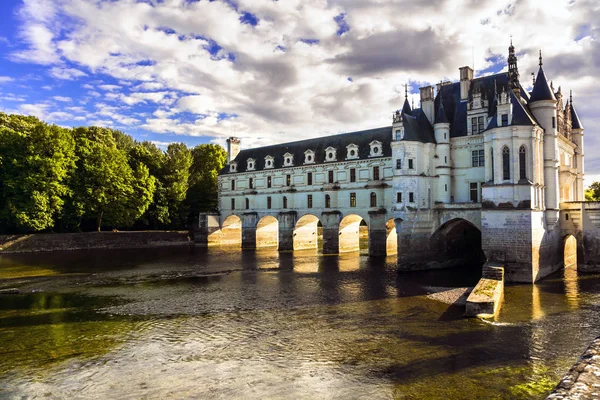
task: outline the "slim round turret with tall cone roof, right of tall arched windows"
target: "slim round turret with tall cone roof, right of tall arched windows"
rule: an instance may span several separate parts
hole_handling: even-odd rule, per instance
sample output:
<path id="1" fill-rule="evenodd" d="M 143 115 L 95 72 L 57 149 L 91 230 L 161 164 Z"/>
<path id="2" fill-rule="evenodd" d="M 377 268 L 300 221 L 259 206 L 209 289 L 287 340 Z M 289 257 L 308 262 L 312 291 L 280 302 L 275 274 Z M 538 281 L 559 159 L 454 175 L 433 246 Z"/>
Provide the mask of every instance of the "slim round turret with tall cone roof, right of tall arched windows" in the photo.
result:
<path id="1" fill-rule="evenodd" d="M 540 69 L 531 92 L 529 108 L 536 120 L 544 128 L 544 185 L 546 223 L 552 227 L 558 221 L 559 180 L 558 180 L 558 128 L 556 120 L 556 97 L 548 84 L 542 68 L 540 51 Z"/>

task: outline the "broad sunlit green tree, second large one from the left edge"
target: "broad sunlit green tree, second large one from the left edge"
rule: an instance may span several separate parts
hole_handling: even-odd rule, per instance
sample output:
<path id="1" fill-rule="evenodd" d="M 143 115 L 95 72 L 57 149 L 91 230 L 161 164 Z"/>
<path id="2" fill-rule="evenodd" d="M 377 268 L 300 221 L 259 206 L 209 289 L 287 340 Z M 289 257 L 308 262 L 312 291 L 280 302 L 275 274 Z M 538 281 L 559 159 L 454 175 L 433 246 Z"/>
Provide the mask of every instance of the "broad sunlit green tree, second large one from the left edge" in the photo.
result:
<path id="1" fill-rule="evenodd" d="M 98 231 L 105 225 L 131 226 L 152 202 L 155 178 L 141 163 L 131 168 L 110 129 L 77 128 L 74 134 L 78 161 L 72 210 L 94 218 Z"/>

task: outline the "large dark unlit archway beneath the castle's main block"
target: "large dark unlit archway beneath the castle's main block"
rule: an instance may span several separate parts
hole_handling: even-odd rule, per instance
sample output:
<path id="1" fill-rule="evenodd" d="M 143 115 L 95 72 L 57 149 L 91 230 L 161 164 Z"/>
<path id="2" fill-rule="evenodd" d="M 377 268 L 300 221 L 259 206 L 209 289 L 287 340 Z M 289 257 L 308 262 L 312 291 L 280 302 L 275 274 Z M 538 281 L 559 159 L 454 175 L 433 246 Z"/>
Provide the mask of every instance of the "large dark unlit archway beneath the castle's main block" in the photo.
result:
<path id="1" fill-rule="evenodd" d="M 431 237 L 431 249 L 437 254 L 440 268 L 481 268 L 485 255 L 481 249 L 481 231 L 471 222 L 456 218 L 442 226 Z"/>

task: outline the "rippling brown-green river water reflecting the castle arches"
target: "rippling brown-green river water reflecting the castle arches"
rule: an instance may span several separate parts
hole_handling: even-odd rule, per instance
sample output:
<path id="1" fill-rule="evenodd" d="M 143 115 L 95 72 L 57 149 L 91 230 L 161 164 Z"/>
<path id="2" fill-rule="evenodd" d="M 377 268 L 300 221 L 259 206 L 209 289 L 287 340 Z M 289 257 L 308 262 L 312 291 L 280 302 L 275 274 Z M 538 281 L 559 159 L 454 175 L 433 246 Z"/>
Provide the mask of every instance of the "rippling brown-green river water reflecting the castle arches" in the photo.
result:
<path id="1" fill-rule="evenodd" d="M 432 300 L 478 271 L 239 249 L 0 256 L 0 398 L 541 399 L 600 335 L 600 275 Z"/>

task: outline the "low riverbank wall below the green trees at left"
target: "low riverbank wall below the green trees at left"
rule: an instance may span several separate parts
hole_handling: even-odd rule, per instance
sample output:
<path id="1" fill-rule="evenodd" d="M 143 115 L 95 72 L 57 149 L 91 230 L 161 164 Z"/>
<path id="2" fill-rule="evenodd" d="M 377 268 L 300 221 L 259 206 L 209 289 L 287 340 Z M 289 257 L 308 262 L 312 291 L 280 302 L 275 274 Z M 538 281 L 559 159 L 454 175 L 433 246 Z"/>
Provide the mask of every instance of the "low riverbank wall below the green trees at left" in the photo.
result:
<path id="1" fill-rule="evenodd" d="M 133 249 L 192 244 L 187 231 L 123 231 L 0 235 L 0 254 Z"/>

